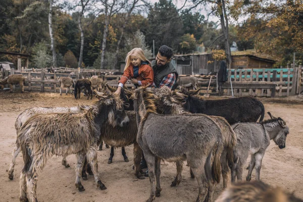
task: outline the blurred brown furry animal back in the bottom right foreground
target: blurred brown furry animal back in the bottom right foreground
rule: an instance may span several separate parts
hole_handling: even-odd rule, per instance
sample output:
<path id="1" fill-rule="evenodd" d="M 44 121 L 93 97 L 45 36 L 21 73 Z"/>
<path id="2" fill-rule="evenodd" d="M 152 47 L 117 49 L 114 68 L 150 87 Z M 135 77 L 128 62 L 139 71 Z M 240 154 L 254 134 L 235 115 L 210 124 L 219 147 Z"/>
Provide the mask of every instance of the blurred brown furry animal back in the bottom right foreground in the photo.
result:
<path id="1" fill-rule="evenodd" d="M 225 189 L 215 202 L 303 202 L 279 187 L 271 187 L 262 181 L 238 182 Z"/>

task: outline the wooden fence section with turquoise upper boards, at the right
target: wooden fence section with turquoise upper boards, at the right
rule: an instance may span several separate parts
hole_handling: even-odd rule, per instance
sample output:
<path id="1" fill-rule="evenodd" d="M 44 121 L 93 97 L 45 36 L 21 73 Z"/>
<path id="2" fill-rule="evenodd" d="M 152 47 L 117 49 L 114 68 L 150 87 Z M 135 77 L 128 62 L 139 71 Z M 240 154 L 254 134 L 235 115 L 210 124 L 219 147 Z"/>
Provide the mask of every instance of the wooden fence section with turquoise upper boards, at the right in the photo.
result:
<path id="1" fill-rule="evenodd" d="M 223 94 L 234 96 L 279 97 L 295 95 L 297 69 L 228 69 L 228 82 L 222 85 Z"/>

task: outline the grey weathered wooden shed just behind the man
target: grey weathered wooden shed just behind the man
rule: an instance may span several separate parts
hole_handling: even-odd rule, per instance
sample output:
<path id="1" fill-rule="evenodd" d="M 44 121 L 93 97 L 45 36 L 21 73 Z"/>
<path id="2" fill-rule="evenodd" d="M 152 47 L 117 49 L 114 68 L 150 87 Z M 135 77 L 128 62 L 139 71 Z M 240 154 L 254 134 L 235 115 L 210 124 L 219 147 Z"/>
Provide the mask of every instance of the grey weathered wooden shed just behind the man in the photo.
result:
<path id="1" fill-rule="evenodd" d="M 175 55 L 172 63 L 179 74 L 208 74 L 220 68 L 220 61 L 214 60 L 212 54 L 206 53 Z"/>

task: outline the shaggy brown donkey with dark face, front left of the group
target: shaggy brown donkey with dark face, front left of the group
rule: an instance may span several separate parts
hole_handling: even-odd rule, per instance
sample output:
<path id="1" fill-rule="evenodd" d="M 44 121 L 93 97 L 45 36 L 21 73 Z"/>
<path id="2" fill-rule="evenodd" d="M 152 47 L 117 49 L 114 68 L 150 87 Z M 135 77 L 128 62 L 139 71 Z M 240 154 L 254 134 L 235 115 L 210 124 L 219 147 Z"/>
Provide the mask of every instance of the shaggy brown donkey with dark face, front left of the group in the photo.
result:
<path id="1" fill-rule="evenodd" d="M 84 113 L 47 113 L 30 117 L 18 133 L 24 160 L 20 176 L 20 200 L 37 201 L 37 175 L 54 154 L 77 154 L 76 187 L 79 191 L 85 190 L 81 184 L 85 156 L 92 165 L 97 187 L 106 189 L 97 171 L 99 134 L 106 122 L 113 127 L 123 127 L 129 122 L 123 102 L 117 95 L 99 96 L 99 101 Z"/>

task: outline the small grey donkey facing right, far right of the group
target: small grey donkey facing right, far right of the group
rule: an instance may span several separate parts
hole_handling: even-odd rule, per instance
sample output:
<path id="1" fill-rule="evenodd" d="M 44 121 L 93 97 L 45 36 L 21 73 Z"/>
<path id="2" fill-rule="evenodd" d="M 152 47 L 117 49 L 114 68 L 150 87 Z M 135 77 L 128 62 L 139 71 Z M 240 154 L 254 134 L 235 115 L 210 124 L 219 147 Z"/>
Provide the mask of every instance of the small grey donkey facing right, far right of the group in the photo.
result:
<path id="1" fill-rule="evenodd" d="M 239 123 L 232 126 L 237 135 L 237 144 L 234 149 L 234 164 L 231 168 L 231 181 L 242 180 L 243 165 L 246 163 L 248 154 L 251 160 L 248 167 L 246 181 L 250 181 L 252 169 L 256 166 L 256 180 L 260 180 L 260 171 L 262 159 L 270 140 L 279 146 L 280 149 L 285 147 L 286 137 L 289 134 L 289 128 L 284 120 L 276 118 L 270 114 L 271 119 L 263 123 Z M 236 159 L 238 159 L 236 161 Z"/>

